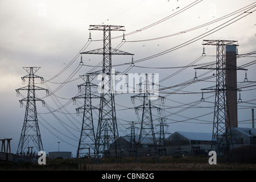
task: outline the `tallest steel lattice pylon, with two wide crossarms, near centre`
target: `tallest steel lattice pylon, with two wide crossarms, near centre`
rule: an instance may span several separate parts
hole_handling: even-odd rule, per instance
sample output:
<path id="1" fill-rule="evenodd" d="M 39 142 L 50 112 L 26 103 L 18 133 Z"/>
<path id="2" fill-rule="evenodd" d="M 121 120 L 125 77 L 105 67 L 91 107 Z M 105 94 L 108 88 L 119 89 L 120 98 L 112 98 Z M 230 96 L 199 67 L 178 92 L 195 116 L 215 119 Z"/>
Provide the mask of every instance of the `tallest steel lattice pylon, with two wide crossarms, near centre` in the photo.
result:
<path id="1" fill-rule="evenodd" d="M 102 64 L 102 82 L 101 98 L 98 118 L 98 127 L 96 133 L 96 158 L 97 163 L 110 153 L 114 153 L 116 162 L 118 162 L 118 153 L 121 152 L 118 140 L 117 118 L 115 113 L 114 88 L 112 77 L 112 55 L 133 55 L 128 52 L 112 48 L 111 32 L 125 31 L 123 26 L 114 25 L 90 25 L 89 30 L 103 31 L 103 48 L 92 51 L 81 52 L 82 54 L 103 55 Z M 112 143 L 111 143 L 112 142 Z M 111 144 L 110 144 L 111 143 Z"/>

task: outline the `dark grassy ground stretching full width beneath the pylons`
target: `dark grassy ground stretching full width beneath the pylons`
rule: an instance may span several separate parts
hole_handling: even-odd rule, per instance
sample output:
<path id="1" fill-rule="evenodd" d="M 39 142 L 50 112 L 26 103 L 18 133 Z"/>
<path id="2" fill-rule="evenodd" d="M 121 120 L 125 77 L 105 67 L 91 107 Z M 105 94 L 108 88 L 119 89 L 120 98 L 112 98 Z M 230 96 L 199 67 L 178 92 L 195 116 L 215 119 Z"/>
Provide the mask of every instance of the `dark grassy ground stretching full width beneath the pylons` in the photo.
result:
<path id="1" fill-rule="evenodd" d="M 217 163 L 210 165 L 208 156 L 190 156 L 143 159 L 134 163 L 133 158 L 126 158 L 122 163 L 112 163 L 108 159 L 101 164 L 93 163 L 90 159 L 47 159 L 46 165 L 33 163 L 11 163 L 0 161 L 0 170 L 9 171 L 256 171 L 255 163 Z"/>

